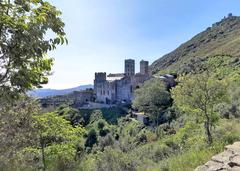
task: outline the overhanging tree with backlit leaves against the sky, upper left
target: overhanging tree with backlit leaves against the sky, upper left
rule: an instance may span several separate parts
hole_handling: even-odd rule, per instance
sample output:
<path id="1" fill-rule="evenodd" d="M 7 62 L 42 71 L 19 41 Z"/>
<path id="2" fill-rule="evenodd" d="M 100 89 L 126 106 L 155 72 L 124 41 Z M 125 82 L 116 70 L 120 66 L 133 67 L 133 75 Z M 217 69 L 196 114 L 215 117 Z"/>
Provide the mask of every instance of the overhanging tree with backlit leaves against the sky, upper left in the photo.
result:
<path id="1" fill-rule="evenodd" d="M 47 53 L 67 42 L 60 15 L 44 0 L 0 1 L 1 97 L 47 83 L 53 65 Z"/>

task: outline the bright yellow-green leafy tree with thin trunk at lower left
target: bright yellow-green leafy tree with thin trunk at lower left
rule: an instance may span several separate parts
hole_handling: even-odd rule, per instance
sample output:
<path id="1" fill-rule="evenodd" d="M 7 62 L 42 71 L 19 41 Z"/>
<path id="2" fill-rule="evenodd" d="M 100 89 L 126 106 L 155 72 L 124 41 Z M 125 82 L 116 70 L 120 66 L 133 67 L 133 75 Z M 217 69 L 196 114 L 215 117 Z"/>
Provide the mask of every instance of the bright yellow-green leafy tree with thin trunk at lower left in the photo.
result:
<path id="1" fill-rule="evenodd" d="M 56 162 L 59 157 L 63 159 L 64 156 L 68 161 L 74 160 L 73 156 L 76 154 L 77 145 L 81 143 L 85 130 L 81 127 L 72 127 L 69 121 L 56 113 L 42 114 L 36 116 L 35 119 L 35 127 L 39 133 L 43 170 L 47 169 L 46 158 L 50 158 L 49 163 Z M 68 149 L 69 153 L 62 148 Z M 49 155 L 46 156 L 46 153 Z"/>

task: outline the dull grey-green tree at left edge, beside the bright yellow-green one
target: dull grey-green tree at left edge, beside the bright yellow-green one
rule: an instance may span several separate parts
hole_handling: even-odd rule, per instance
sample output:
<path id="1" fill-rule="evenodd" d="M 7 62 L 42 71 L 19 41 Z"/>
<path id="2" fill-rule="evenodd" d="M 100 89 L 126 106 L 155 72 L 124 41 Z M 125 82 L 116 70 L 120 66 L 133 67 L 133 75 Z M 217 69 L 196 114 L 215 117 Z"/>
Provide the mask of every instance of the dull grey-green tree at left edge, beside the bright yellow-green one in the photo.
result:
<path id="1" fill-rule="evenodd" d="M 2 104 L 0 107 L 0 168 L 3 170 L 25 170 L 24 157 L 18 153 L 28 147 L 37 147 L 37 129 L 34 116 L 40 107 L 36 100 L 21 96 L 18 101 Z M 31 159 L 33 160 L 33 159 Z M 34 169 L 33 169 L 34 170 Z"/>

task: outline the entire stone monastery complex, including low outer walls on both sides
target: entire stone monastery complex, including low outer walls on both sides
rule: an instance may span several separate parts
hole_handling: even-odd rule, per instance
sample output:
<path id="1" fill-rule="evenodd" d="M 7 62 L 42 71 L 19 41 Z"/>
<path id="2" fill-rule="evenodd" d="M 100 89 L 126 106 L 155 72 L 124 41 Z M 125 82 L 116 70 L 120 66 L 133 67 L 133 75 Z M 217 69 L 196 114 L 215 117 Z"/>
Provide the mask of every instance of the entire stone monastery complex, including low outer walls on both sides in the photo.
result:
<path id="1" fill-rule="evenodd" d="M 94 89 L 45 97 L 40 101 L 42 107 L 58 107 L 62 104 L 69 104 L 82 109 L 104 108 L 112 104 L 130 104 L 134 99 L 134 90 L 151 78 L 161 79 L 167 89 L 176 85 L 174 75 L 151 76 L 148 61 L 140 61 L 140 72 L 135 73 L 135 61 L 126 59 L 124 73 L 108 75 L 105 72 L 95 73 Z"/>

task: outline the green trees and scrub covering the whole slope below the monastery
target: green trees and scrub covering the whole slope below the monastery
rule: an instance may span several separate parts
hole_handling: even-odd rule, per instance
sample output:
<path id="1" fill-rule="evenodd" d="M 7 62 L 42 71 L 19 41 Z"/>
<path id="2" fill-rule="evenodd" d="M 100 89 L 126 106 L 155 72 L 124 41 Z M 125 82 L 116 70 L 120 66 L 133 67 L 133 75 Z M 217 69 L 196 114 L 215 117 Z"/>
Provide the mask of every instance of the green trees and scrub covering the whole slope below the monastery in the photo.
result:
<path id="1" fill-rule="evenodd" d="M 61 106 L 42 114 L 36 101 L 23 97 L 1 110 L 1 123 L 9 121 L 1 127 L 7 140 L 1 168 L 193 170 L 240 140 L 239 71 L 237 58 L 218 55 L 179 76 L 170 90 L 149 80 L 133 103 L 150 116 L 148 126 L 117 108 Z"/>

